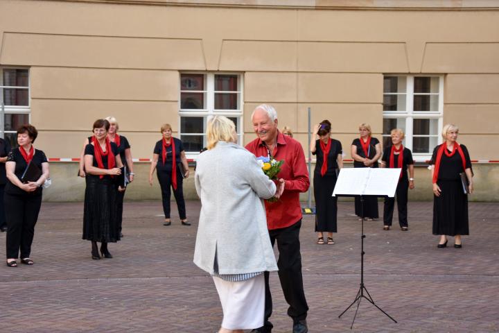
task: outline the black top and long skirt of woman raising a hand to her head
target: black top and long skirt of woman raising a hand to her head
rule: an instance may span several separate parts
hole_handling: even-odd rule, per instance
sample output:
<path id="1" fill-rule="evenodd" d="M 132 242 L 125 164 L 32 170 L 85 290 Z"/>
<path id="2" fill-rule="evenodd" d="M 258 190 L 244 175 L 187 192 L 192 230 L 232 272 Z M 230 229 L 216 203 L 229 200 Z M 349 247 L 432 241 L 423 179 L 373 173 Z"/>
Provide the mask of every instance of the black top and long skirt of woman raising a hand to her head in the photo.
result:
<path id="1" fill-rule="evenodd" d="M 337 232 L 338 198 L 332 196 L 338 178 L 338 155 L 342 153 L 341 142 L 331 139 L 331 148 L 328 154 L 327 171 L 321 176 L 324 153 L 320 147 L 320 140 L 315 141 L 317 162 L 314 171 L 314 198 L 315 198 L 315 231 Z"/>

